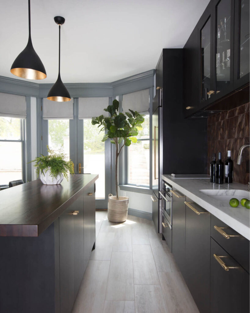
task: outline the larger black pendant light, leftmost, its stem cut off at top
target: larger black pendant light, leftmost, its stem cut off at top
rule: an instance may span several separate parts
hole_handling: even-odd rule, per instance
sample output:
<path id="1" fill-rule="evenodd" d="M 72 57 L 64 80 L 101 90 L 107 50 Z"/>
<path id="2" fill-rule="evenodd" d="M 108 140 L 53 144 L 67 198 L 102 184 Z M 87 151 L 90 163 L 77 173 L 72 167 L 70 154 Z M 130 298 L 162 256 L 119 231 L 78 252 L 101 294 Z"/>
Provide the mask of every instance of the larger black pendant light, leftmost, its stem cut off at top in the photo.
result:
<path id="1" fill-rule="evenodd" d="M 29 6 L 29 39 L 26 48 L 17 56 L 10 69 L 11 73 L 26 79 L 44 79 L 47 77 L 41 59 L 32 46 L 30 34 L 30 0 Z"/>

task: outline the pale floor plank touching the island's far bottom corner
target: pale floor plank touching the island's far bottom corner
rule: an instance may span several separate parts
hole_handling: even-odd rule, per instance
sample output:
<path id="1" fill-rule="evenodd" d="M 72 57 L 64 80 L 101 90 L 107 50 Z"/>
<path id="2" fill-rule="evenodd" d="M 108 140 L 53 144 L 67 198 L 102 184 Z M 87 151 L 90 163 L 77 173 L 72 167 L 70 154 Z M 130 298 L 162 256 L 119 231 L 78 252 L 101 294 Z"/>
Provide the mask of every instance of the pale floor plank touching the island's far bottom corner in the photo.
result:
<path id="1" fill-rule="evenodd" d="M 90 260 L 110 260 L 115 233 L 99 233 Z"/>

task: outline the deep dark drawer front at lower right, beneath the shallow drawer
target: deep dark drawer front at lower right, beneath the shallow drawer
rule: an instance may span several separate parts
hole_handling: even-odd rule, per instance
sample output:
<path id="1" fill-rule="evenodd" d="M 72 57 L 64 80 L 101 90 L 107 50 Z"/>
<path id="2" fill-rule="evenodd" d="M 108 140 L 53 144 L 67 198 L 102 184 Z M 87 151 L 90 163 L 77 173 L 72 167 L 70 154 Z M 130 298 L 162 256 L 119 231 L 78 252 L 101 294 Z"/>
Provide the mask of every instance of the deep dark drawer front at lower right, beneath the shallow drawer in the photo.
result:
<path id="1" fill-rule="evenodd" d="M 249 313 L 249 274 L 212 238 L 210 290 L 212 313 Z"/>

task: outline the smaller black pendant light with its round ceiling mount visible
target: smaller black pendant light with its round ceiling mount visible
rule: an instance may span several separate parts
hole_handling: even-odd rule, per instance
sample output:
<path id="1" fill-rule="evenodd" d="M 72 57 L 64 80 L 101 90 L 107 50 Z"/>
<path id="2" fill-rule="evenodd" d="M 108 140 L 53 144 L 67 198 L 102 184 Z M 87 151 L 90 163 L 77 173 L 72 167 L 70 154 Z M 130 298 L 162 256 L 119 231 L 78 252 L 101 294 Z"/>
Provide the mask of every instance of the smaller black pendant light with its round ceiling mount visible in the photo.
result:
<path id="1" fill-rule="evenodd" d="M 54 21 L 59 25 L 59 70 L 58 70 L 57 81 L 51 87 L 51 90 L 49 91 L 47 95 L 47 99 L 52 100 L 52 101 L 59 101 L 59 102 L 70 101 L 71 97 L 69 95 L 67 88 L 63 85 L 63 82 L 60 76 L 61 25 L 63 25 L 63 23 L 65 22 L 65 18 L 61 16 L 55 16 Z"/>

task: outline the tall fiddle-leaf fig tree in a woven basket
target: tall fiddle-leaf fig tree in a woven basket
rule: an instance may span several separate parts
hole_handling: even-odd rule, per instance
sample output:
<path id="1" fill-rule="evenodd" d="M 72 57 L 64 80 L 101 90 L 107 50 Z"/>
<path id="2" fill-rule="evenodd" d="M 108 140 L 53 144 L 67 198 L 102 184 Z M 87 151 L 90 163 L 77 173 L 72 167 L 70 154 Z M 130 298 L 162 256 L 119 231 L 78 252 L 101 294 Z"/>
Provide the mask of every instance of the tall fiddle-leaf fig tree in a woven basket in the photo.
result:
<path id="1" fill-rule="evenodd" d="M 102 141 L 111 139 L 111 143 L 115 145 L 115 186 L 116 196 L 112 194 L 108 197 L 108 220 L 110 222 L 124 222 L 128 216 L 128 197 L 118 195 L 118 157 L 124 146 L 130 146 L 131 143 L 136 143 L 138 131 L 142 129 L 141 124 L 144 122 L 144 117 L 137 111 L 129 110 L 130 112 L 118 113 L 119 102 L 113 101 L 112 105 L 108 105 L 104 111 L 109 112 L 109 117 L 100 115 L 92 118 L 92 125 L 101 127 L 100 131 L 107 131 L 103 136 Z"/>

